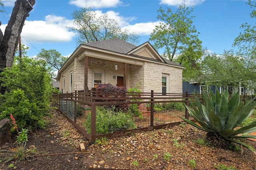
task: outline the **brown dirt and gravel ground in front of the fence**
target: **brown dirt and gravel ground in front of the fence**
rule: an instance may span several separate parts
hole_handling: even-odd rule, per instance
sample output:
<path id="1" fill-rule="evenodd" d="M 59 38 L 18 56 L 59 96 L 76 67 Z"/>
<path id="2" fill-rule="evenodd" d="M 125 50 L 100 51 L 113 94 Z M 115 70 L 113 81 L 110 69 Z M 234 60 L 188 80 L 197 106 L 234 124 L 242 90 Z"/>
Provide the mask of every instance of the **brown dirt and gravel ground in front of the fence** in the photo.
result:
<path id="1" fill-rule="evenodd" d="M 256 170 L 251 150 L 229 149 L 228 143 L 184 123 L 92 143 L 58 111 L 46 120 L 46 129 L 28 133 L 26 147 L 36 147 L 33 157 L 2 162 L 0 170 Z M 13 150 L 15 141 L 13 135 L 0 150 Z M 256 142 L 244 142 L 256 148 Z M 85 150 L 80 150 L 80 143 Z"/>

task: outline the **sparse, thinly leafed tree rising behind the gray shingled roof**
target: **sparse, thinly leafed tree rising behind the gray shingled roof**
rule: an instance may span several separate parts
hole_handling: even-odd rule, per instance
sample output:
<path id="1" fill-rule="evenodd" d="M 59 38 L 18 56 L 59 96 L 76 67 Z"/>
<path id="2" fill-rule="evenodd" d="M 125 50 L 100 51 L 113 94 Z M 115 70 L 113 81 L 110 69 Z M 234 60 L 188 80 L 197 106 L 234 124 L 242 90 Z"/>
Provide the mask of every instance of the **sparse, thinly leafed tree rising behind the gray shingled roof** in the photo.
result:
<path id="1" fill-rule="evenodd" d="M 122 31 L 117 21 L 108 18 L 107 14 L 97 17 L 96 12 L 90 7 L 75 10 L 72 18 L 74 27 L 69 28 L 78 34 L 78 45 L 112 38 L 120 38 L 132 44 L 139 43 L 139 35 L 128 30 Z"/>

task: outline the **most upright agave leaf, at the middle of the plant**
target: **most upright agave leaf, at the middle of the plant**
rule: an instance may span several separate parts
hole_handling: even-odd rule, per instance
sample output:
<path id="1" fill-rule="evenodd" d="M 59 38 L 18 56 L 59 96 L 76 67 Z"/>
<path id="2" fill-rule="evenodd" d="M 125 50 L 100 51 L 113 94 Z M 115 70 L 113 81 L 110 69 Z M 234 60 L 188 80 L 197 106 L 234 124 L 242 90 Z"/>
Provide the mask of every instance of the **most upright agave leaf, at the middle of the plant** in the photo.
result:
<path id="1" fill-rule="evenodd" d="M 220 99 L 220 106 L 218 108 L 218 117 L 220 118 L 221 129 L 225 127 L 227 116 L 228 116 L 228 101 L 224 93 L 222 94 L 222 98 Z"/>

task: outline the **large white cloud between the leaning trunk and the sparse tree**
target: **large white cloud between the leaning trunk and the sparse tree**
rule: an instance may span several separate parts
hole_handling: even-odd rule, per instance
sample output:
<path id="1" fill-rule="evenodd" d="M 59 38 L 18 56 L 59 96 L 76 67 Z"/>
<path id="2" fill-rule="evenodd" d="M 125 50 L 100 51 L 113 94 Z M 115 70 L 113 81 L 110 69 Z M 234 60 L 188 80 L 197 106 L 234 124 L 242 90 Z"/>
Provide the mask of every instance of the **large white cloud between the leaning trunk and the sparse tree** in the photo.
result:
<path id="1" fill-rule="evenodd" d="M 69 32 L 66 28 L 72 24 L 73 20 L 62 16 L 48 15 L 44 21 L 25 21 L 21 35 L 27 41 L 35 43 L 68 42 L 75 36 L 75 33 Z"/>

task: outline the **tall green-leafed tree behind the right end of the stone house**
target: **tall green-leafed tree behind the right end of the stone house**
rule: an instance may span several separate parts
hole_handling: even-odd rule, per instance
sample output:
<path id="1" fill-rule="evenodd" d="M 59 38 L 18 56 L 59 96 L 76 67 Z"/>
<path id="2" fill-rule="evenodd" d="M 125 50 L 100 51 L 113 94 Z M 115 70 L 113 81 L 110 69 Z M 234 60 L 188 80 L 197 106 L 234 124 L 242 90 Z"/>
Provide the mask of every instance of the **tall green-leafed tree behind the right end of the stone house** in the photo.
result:
<path id="1" fill-rule="evenodd" d="M 170 8 L 167 11 L 162 7 L 158 10 L 157 19 L 162 22 L 156 25 L 155 29 L 150 35 L 150 40 L 154 41 L 156 49 L 164 48 L 163 56 L 169 60 L 173 60 L 174 56 L 179 53 L 182 64 L 187 61 L 196 61 L 195 58 L 200 58 L 202 55 L 202 41 L 198 39 L 198 32 L 195 26 L 192 25 L 190 13 L 193 8 L 189 9 L 185 4 L 181 4 L 173 13 Z M 197 54 L 199 51 L 199 54 Z"/>

